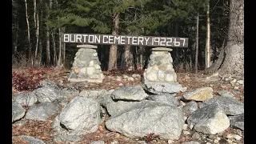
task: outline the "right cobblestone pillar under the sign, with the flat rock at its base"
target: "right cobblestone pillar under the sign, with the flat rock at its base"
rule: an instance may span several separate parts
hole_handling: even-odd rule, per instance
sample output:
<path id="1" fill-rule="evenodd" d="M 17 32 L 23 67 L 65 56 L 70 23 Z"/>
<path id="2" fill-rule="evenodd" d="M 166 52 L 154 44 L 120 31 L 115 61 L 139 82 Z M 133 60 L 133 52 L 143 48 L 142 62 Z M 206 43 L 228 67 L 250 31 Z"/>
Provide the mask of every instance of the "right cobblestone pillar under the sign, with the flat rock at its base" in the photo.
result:
<path id="1" fill-rule="evenodd" d="M 144 71 L 142 86 L 154 94 L 178 93 L 183 88 L 177 82 L 177 74 L 173 68 L 173 58 L 166 47 L 154 47 L 151 49 L 150 60 Z"/>

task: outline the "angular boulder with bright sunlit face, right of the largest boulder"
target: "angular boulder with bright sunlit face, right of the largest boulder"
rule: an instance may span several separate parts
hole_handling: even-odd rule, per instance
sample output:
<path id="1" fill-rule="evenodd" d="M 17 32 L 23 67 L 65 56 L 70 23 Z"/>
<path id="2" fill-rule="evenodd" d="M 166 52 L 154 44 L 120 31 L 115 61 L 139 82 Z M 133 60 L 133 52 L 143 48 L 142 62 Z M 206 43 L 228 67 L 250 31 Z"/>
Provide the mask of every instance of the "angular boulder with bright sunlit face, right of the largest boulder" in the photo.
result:
<path id="1" fill-rule="evenodd" d="M 203 134 L 219 134 L 230 127 L 230 119 L 218 103 L 194 111 L 187 118 L 188 125 Z"/>

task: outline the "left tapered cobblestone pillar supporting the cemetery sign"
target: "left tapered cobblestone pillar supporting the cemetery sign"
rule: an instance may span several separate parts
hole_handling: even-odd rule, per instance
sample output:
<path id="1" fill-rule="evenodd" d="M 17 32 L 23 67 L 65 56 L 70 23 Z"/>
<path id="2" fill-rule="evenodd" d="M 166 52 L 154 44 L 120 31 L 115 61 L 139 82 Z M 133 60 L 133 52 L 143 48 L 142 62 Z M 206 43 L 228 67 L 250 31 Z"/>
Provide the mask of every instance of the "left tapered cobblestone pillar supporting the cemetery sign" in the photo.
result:
<path id="1" fill-rule="evenodd" d="M 68 77 L 69 82 L 102 82 L 101 62 L 98 60 L 97 46 L 78 45 L 73 66 Z"/>

